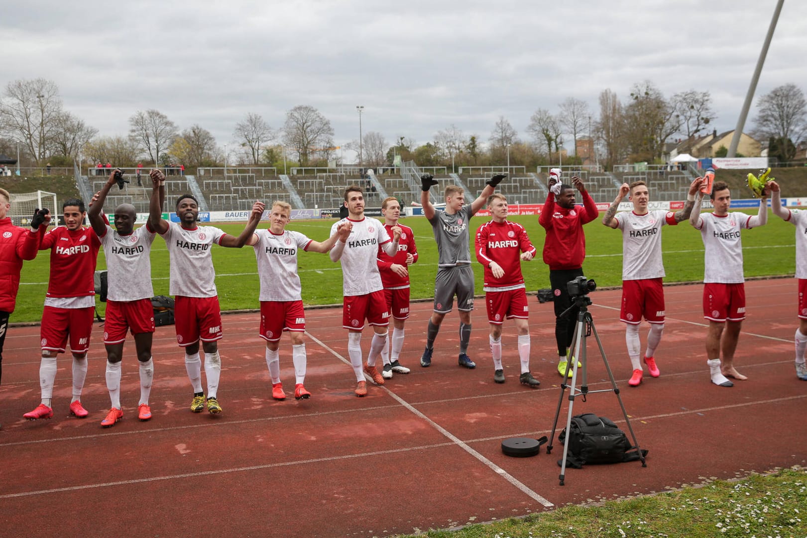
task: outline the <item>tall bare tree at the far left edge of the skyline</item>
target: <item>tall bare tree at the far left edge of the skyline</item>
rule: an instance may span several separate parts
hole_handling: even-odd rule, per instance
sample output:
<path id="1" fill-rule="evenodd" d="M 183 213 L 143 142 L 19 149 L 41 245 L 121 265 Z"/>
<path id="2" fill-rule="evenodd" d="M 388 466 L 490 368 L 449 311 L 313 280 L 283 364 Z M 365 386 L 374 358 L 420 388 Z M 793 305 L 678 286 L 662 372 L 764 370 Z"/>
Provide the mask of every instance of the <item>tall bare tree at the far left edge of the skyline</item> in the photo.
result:
<path id="1" fill-rule="evenodd" d="M 19 140 L 29 155 L 42 161 L 52 150 L 52 133 L 60 114 L 59 88 L 52 81 L 11 81 L 0 99 L 0 131 Z"/>

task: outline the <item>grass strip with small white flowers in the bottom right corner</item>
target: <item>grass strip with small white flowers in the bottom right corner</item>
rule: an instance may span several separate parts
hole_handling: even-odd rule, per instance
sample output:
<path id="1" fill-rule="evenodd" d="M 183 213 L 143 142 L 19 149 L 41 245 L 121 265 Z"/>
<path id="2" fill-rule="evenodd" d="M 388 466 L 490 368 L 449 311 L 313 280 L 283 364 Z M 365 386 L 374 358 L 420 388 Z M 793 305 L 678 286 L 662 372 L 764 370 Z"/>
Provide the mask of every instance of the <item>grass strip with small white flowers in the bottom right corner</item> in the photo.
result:
<path id="1" fill-rule="evenodd" d="M 783 469 L 739 482 L 717 481 L 670 493 L 569 506 L 523 519 L 430 531 L 430 538 L 625 538 L 654 536 L 807 536 L 807 473 Z"/>

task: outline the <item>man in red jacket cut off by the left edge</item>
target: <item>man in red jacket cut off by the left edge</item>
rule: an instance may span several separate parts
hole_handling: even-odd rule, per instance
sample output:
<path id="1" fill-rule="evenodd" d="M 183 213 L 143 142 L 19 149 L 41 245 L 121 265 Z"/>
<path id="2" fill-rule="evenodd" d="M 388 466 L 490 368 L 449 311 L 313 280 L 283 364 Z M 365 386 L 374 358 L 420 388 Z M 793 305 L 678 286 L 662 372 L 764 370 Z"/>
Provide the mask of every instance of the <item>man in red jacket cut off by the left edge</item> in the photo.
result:
<path id="1" fill-rule="evenodd" d="M 17 302 L 19 272 L 23 260 L 33 260 L 39 247 L 40 223 L 44 223 L 47 210 L 36 210 L 31 219 L 31 231 L 11 223 L 8 211 L 10 195 L 0 189 L 0 381 L 2 381 L 2 347 L 6 342 L 8 319 Z M 41 216 L 39 216 L 41 213 Z"/>

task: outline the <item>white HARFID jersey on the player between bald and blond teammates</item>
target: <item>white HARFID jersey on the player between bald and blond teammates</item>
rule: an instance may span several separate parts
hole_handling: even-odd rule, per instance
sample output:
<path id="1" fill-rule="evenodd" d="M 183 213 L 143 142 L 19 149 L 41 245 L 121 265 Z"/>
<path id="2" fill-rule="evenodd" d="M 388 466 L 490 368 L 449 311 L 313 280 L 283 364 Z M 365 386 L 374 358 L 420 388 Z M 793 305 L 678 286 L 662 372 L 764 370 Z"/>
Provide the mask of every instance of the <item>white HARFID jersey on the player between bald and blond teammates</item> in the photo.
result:
<path id="1" fill-rule="evenodd" d="M 171 260 L 169 293 L 184 297 L 215 297 L 215 270 L 210 248 L 218 244 L 224 231 L 213 226 L 186 230 L 179 223 L 168 223 L 162 236 Z"/>

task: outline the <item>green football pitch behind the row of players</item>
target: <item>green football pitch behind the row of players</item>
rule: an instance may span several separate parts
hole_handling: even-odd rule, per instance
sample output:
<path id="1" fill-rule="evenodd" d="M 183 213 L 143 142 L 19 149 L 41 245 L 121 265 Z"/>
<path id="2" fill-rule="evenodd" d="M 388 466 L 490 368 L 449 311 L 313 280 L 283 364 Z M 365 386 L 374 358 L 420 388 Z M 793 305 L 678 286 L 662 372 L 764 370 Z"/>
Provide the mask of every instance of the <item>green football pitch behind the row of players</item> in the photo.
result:
<path id="1" fill-rule="evenodd" d="M 756 211 L 749 211 L 755 214 Z M 774 215 L 768 215 L 765 227 L 743 231 L 746 277 L 792 274 L 795 271 L 795 238 L 792 224 L 784 223 Z M 544 230 L 536 216 L 516 216 L 512 220 L 521 223 L 527 230 L 539 256 L 522 262 L 527 290 L 535 291 L 549 286 L 549 269 L 541 260 Z M 471 221 L 471 248 L 473 233 L 486 221 L 476 217 Z M 301 231 L 314 240 L 324 240 L 334 221 L 304 220 L 289 224 L 289 229 Z M 434 292 L 434 276 L 437 273 L 437 244 L 426 219 L 412 217 L 401 223 L 415 232 L 420 261 L 409 268 L 412 281 L 412 298 L 430 298 Z M 218 225 L 224 231 L 237 235 L 243 224 Z M 261 227 L 268 223 L 261 223 Z M 594 278 L 598 286 L 621 284 L 622 237 L 620 231 L 604 227 L 599 219 L 585 226 L 586 261 L 583 269 L 586 276 Z M 667 269 L 665 282 L 690 282 L 703 278 L 703 244 L 700 232 L 688 223 L 667 226 L 663 230 L 664 265 Z M 242 249 L 215 247 L 212 250 L 216 270 L 216 286 L 222 310 L 253 309 L 258 307 L 258 279 L 253 248 Z M 39 321 L 48 282 L 48 252 L 40 252 L 34 261 L 23 266 L 17 307 L 12 322 Z M 106 267 L 103 252 L 98 256 L 98 269 Z M 474 263 L 476 292 L 482 294 L 483 268 Z M 339 263 L 333 263 L 327 254 L 300 252 L 299 274 L 303 282 L 303 302 L 306 305 L 333 304 L 342 302 L 342 274 Z M 168 294 L 169 260 L 165 242 L 157 237 L 152 251 L 152 278 L 155 294 Z M 104 303 L 98 302 L 98 311 L 103 312 Z"/>

